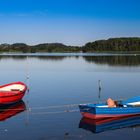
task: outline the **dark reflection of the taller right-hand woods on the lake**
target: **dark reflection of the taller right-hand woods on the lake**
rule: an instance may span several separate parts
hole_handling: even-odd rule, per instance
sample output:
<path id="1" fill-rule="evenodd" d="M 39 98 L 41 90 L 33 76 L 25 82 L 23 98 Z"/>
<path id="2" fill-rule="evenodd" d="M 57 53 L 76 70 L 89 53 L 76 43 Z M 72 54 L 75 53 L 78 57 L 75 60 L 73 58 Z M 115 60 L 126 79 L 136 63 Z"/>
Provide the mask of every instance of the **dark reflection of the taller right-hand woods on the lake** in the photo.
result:
<path id="1" fill-rule="evenodd" d="M 108 64 L 111 66 L 138 66 L 140 56 L 83 56 L 89 63 Z"/>

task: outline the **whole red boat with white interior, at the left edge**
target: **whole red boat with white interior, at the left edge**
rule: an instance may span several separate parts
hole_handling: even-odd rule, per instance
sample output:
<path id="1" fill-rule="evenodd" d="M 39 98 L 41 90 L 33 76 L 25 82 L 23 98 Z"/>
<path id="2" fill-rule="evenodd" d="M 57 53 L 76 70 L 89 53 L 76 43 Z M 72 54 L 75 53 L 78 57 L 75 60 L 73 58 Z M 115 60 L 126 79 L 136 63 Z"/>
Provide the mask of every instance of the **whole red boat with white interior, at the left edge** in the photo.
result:
<path id="1" fill-rule="evenodd" d="M 20 101 L 27 90 L 22 82 L 14 82 L 0 86 L 0 104 L 9 104 Z"/>

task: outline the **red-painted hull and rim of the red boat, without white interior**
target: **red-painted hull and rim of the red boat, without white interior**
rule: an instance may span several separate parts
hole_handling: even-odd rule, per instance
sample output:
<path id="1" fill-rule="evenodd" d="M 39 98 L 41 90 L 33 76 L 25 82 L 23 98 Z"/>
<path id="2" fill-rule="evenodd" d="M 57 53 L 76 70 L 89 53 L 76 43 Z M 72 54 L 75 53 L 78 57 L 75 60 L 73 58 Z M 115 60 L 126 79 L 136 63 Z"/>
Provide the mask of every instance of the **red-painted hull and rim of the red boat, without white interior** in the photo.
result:
<path id="1" fill-rule="evenodd" d="M 10 104 L 10 103 L 18 102 L 23 98 L 27 90 L 27 86 L 22 82 L 13 82 L 10 84 L 0 86 L 0 90 L 3 87 L 8 87 L 11 85 L 22 85 L 24 86 L 24 88 L 22 91 L 16 89 L 11 91 L 0 91 L 0 104 Z"/>

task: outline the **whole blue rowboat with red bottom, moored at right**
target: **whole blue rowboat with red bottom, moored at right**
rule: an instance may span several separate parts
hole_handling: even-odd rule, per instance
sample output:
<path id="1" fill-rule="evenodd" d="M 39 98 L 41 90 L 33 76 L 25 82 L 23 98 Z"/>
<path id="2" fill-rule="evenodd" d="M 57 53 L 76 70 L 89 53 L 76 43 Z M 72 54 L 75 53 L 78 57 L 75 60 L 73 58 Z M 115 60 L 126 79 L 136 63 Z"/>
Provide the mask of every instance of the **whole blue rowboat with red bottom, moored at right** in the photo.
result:
<path id="1" fill-rule="evenodd" d="M 117 107 L 108 107 L 102 104 L 80 104 L 79 109 L 83 117 L 102 119 L 108 117 L 123 117 L 140 114 L 140 96 L 126 101 L 117 101 Z"/>

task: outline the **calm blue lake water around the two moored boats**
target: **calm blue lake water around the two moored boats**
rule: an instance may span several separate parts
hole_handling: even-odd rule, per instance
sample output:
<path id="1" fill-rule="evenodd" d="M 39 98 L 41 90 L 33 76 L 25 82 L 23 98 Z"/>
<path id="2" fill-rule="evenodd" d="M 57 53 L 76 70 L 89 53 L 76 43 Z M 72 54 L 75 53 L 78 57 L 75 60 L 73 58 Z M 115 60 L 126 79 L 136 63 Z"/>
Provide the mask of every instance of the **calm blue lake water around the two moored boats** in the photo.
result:
<path id="1" fill-rule="evenodd" d="M 81 123 L 78 110 L 81 103 L 139 96 L 140 55 L 1 55 L 0 70 L 1 85 L 23 81 L 29 88 L 23 102 L 0 111 L 0 140 L 140 137 L 139 116 L 136 126 L 110 127 L 96 133 L 96 126 Z"/>

